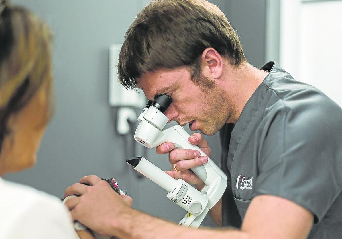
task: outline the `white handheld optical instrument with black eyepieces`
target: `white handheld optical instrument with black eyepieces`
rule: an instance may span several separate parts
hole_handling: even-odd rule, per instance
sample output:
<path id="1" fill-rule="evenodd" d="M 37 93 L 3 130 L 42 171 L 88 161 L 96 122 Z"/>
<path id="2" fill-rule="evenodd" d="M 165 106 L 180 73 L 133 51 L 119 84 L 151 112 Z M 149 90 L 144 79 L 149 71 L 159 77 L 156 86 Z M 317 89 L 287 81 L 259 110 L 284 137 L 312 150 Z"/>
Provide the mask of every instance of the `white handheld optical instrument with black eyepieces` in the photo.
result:
<path id="1" fill-rule="evenodd" d="M 182 126 L 175 125 L 163 130 L 169 120 L 168 117 L 163 114 L 163 112 L 167 110 L 171 102 L 172 99 L 165 94 L 157 96 L 155 98 L 155 101 L 148 101 L 146 107 L 143 109 L 138 117 L 139 125 L 135 130 L 134 139 L 148 148 L 159 146 L 160 144 L 165 142 L 172 142 L 175 146 L 175 149 L 198 150 L 201 156 L 207 156 L 197 145 L 189 143 L 188 138 L 190 137 L 190 135 L 183 129 Z M 144 159 L 143 161 L 147 160 Z M 141 170 L 141 173 L 166 189 L 169 194 L 170 188 L 167 189 L 165 187 L 165 182 L 176 185 L 175 187 L 172 186 L 173 191 L 171 192 L 171 194 L 178 195 L 179 198 L 171 197 L 171 195 L 169 194 L 168 197 L 170 196 L 169 198 L 171 200 L 173 200 L 176 204 L 189 212 L 179 223 L 180 225 L 184 226 L 191 226 L 196 228 L 199 227 L 209 209 L 211 209 L 220 200 L 227 186 L 227 176 L 221 171 L 218 166 L 214 164 L 214 162 L 209 157 L 207 163 L 191 169 L 205 183 L 205 186 L 200 192 L 181 179 L 173 179 L 156 166 L 146 167 L 146 169 L 147 168 L 154 171 L 146 172 L 146 170 Z M 138 170 L 139 168 L 135 167 L 135 169 Z M 171 183 L 170 180 L 161 181 L 156 179 L 156 177 L 154 177 L 153 175 L 154 172 L 158 170 L 172 178 L 174 181 L 177 181 L 177 183 Z M 161 179 L 165 178 L 165 175 L 164 177 L 161 177 Z M 152 179 L 152 177 L 154 179 Z M 205 197 L 208 200 L 204 200 L 202 199 L 202 197 Z M 188 199 L 189 201 L 187 201 Z M 183 206 L 184 203 L 182 204 L 182 202 L 184 200 L 189 202 L 189 205 L 186 205 L 189 207 Z M 200 206 L 191 206 L 197 205 L 197 203 L 199 203 Z M 199 208 L 201 208 L 200 211 L 198 211 Z"/>

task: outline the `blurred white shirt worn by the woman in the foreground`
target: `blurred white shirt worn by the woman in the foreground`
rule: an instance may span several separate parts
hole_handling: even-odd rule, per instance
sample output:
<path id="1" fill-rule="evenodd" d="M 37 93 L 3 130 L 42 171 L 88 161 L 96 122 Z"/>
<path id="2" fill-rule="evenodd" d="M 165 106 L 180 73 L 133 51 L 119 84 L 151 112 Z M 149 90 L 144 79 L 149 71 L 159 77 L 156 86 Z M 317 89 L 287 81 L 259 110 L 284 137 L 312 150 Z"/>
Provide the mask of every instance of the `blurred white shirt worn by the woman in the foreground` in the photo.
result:
<path id="1" fill-rule="evenodd" d="M 0 178 L 0 239 L 79 238 L 61 201 Z"/>

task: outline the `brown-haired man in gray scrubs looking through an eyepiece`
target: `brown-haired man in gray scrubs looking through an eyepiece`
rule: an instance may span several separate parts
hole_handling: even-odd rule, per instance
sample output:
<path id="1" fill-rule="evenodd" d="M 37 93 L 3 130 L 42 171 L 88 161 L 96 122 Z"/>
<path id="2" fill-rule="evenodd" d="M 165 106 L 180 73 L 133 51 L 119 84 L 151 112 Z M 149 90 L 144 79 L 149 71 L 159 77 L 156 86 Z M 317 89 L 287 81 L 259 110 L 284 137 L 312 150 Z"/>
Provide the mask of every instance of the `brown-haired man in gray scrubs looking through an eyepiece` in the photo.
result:
<path id="1" fill-rule="evenodd" d="M 215 5 L 149 3 L 126 33 L 118 72 L 124 86 L 140 87 L 149 100 L 170 95 L 169 121 L 206 135 L 221 130 L 228 187 L 211 215 L 225 228 L 180 227 L 131 209 L 94 175 L 80 180 L 91 186 L 66 190 L 81 195 L 68 203 L 74 219 L 120 238 L 341 238 L 341 108 L 275 62 L 249 65 Z M 199 133 L 189 142 L 211 155 Z M 169 153 L 168 174 L 201 189 L 189 168 L 207 158 L 173 147 L 156 149 Z"/>

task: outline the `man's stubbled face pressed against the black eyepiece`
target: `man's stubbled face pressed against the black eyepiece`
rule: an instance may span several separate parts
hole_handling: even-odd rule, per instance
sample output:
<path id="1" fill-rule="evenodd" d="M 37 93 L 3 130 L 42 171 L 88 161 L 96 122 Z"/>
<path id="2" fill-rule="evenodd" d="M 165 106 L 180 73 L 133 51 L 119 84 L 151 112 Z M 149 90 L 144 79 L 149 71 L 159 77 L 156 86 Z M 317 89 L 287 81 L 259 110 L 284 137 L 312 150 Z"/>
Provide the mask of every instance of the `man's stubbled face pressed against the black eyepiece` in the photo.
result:
<path id="1" fill-rule="evenodd" d="M 138 83 L 149 100 L 161 94 L 171 96 L 172 103 L 165 111 L 169 122 L 176 121 L 181 126 L 188 123 L 192 131 L 214 135 L 230 116 L 231 100 L 217 84 L 203 92 L 190 76 L 187 67 L 177 67 L 148 72 Z"/>

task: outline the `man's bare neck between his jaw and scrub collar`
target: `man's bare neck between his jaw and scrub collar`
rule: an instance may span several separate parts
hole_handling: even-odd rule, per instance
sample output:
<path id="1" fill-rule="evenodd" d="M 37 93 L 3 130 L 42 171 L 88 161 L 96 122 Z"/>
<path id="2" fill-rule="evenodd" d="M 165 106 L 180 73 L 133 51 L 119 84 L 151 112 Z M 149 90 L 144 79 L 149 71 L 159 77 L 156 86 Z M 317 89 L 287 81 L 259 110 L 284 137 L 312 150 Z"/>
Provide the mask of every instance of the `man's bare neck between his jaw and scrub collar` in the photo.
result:
<path id="1" fill-rule="evenodd" d="M 227 123 L 236 124 L 247 101 L 263 82 L 268 72 L 253 67 L 247 62 L 242 62 L 238 68 L 230 68 L 228 71 L 227 82 L 229 83 L 226 84 L 226 89 L 231 96 L 234 112 Z"/>

